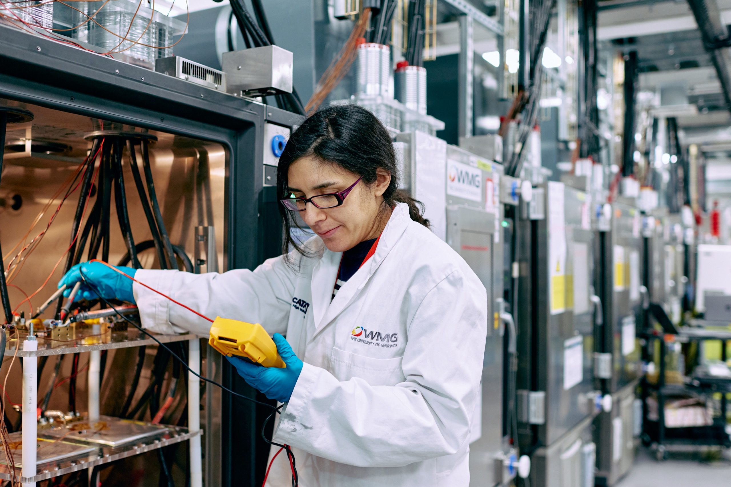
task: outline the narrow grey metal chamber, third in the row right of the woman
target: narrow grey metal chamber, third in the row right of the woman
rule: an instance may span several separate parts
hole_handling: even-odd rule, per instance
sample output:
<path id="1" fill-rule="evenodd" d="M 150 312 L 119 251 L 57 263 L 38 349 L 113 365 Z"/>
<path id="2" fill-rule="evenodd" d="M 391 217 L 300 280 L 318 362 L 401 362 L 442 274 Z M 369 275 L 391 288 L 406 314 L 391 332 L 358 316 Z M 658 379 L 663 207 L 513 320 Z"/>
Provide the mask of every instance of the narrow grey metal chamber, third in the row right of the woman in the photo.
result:
<path id="1" fill-rule="evenodd" d="M 613 399 L 612 410 L 599 413 L 594 421 L 598 486 L 616 483 L 635 459 L 635 410 L 622 404 L 634 402 L 642 373 L 636 335 L 643 328 L 642 302 L 647 297 L 642 283 L 645 242 L 640 210 L 624 202 L 611 207 L 610 225 L 599 229 L 596 239 L 601 269 L 596 291 L 604 318 L 603 326 L 596 327 L 596 352 L 611 358 L 610 375 L 596 377 L 596 387 Z"/>

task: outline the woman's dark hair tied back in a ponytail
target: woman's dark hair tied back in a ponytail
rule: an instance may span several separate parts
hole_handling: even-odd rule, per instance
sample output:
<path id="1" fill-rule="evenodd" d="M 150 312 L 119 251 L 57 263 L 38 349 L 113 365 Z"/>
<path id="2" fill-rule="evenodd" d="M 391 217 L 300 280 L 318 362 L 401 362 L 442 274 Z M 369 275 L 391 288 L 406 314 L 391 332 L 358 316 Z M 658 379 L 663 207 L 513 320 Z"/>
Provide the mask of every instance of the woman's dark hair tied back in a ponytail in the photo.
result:
<path id="1" fill-rule="evenodd" d="M 303 121 L 289 137 L 279 158 L 276 176 L 278 199 L 287 196 L 289 166 L 304 156 L 315 156 L 324 162 L 337 164 L 363 177 L 366 185 L 376 182 L 376 169 L 385 169 L 391 173 L 391 182 L 383 193 L 384 204 L 393 207 L 396 203 L 406 203 L 412 220 L 429 226 L 429 221 L 423 216 L 424 205 L 398 189 L 396 153 L 390 134 L 365 108 L 335 105 L 323 108 Z M 307 255 L 290 233 L 292 226 L 299 228 L 294 215 L 281 202 L 279 212 L 284 221 L 284 253 L 295 248 L 302 255 Z"/>

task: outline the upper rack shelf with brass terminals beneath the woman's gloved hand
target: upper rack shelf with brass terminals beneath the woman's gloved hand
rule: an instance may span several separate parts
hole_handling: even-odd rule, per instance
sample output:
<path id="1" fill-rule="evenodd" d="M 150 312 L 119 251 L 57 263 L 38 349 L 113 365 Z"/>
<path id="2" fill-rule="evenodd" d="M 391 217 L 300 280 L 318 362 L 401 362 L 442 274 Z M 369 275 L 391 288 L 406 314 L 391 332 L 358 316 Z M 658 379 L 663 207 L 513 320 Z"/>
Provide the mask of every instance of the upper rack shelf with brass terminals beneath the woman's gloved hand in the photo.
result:
<path id="1" fill-rule="evenodd" d="M 23 336 L 24 333 L 24 331 L 20 331 L 20 340 L 15 340 L 15 337 L 13 337 L 13 340 L 8 340 L 5 356 L 15 355 L 15 350 L 18 348 L 18 342 L 22 344 L 22 340 L 26 338 Z M 188 340 L 194 340 L 197 337 L 195 334 L 153 335 L 157 340 L 163 343 L 185 342 Z M 85 331 L 84 333 L 81 333 L 79 337 L 72 340 L 53 340 L 48 337 L 38 337 L 37 340 L 37 351 L 23 350 L 21 345 L 18 350 L 18 356 L 41 357 L 64 355 L 66 353 L 91 352 L 94 350 L 110 350 L 113 348 L 131 348 L 142 347 L 143 345 L 156 345 L 155 340 L 152 340 L 142 331 L 137 329 L 112 331 L 107 334 L 93 334 L 91 329 L 88 329 L 88 332 Z"/>

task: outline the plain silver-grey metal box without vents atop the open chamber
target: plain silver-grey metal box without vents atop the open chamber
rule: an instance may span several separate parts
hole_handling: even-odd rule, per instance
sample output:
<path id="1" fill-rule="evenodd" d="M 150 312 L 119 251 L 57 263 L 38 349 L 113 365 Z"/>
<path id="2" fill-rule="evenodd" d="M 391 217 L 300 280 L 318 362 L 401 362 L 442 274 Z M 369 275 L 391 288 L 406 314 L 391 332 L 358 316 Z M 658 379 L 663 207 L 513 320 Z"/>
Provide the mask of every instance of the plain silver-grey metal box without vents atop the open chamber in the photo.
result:
<path id="1" fill-rule="evenodd" d="M 224 53 L 221 69 L 227 92 L 249 95 L 292 93 L 292 53 L 278 46 Z"/>

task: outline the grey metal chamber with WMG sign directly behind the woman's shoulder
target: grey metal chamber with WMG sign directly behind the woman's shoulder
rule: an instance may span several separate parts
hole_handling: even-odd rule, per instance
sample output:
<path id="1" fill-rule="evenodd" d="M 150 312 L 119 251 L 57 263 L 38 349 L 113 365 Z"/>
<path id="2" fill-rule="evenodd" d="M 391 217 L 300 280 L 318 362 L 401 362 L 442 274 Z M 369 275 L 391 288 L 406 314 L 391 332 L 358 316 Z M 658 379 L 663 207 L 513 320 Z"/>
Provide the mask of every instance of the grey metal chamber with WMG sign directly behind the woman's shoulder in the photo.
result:
<path id="1" fill-rule="evenodd" d="M 488 290 L 487 341 L 482 364 L 480 402 L 474 413 L 469 469 L 472 486 L 495 486 L 504 478 L 496 459 L 507 453 L 503 412 L 502 205 L 503 168 L 447 145 L 447 243 L 480 277 Z M 505 481 L 510 479 L 504 479 Z"/>

